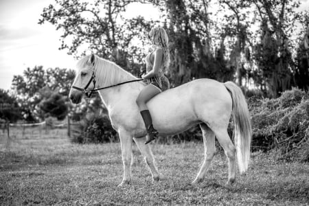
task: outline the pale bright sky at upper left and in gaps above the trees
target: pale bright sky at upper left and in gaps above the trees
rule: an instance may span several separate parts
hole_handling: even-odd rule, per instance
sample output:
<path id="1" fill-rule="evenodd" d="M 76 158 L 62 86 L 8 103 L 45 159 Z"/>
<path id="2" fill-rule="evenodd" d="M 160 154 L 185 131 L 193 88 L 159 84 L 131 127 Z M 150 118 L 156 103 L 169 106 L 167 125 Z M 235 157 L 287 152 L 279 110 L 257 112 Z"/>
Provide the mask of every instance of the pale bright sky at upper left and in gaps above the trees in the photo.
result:
<path id="1" fill-rule="evenodd" d="M 301 0 L 309 8 L 309 0 Z M 54 0 L 0 0 L 0 89 L 11 87 L 14 75 L 30 67 L 75 69 L 76 59 L 60 47 L 60 31 L 54 25 L 38 25 L 43 8 Z M 159 11 L 150 4 L 129 5 L 126 17 L 156 19 Z"/>

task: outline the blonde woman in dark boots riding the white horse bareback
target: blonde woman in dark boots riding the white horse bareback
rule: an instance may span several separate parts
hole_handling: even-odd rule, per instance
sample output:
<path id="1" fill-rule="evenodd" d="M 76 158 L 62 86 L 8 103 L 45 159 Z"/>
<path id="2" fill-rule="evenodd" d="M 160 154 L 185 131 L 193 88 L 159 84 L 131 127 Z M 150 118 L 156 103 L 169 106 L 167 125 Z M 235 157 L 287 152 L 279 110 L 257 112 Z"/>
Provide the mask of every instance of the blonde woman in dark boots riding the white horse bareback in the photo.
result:
<path id="1" fill-rule="evenodd" d="M 145 144 L 154 140 L 158 133 L 152 126 L 152 118 L 146 103 L 158 93 L 170 89 L 170 82 L 163 73 L 170 65 L 168 34 L 162 27 L 154 27 L 150 30 L 148 38 L 152 41 L 153 50 L 145 58 L 146 72 L 141 75 L 141 78 L 147 80 L 148 85 L 141 90 L 136 100 L 148 134 Z"/>

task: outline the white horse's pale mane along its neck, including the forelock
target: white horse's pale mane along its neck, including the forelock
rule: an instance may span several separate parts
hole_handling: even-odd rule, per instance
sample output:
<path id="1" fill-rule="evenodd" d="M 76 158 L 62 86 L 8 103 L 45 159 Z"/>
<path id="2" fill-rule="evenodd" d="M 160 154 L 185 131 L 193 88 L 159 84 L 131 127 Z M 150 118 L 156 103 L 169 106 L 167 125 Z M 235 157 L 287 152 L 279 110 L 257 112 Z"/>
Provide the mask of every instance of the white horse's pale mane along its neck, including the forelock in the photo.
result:
<path id="1" fill-rule="evenodd" d="M 87 66 L 90 56 L 84 56 L 77 63 L 77 68 L 84 68 Z M 95 77 L 97 78 L 98 85 L 100 87 L 108 87 L 129 80 L 137 79 L 132 73 L 122 69 L 104 58 L 95 56 Z"/>

